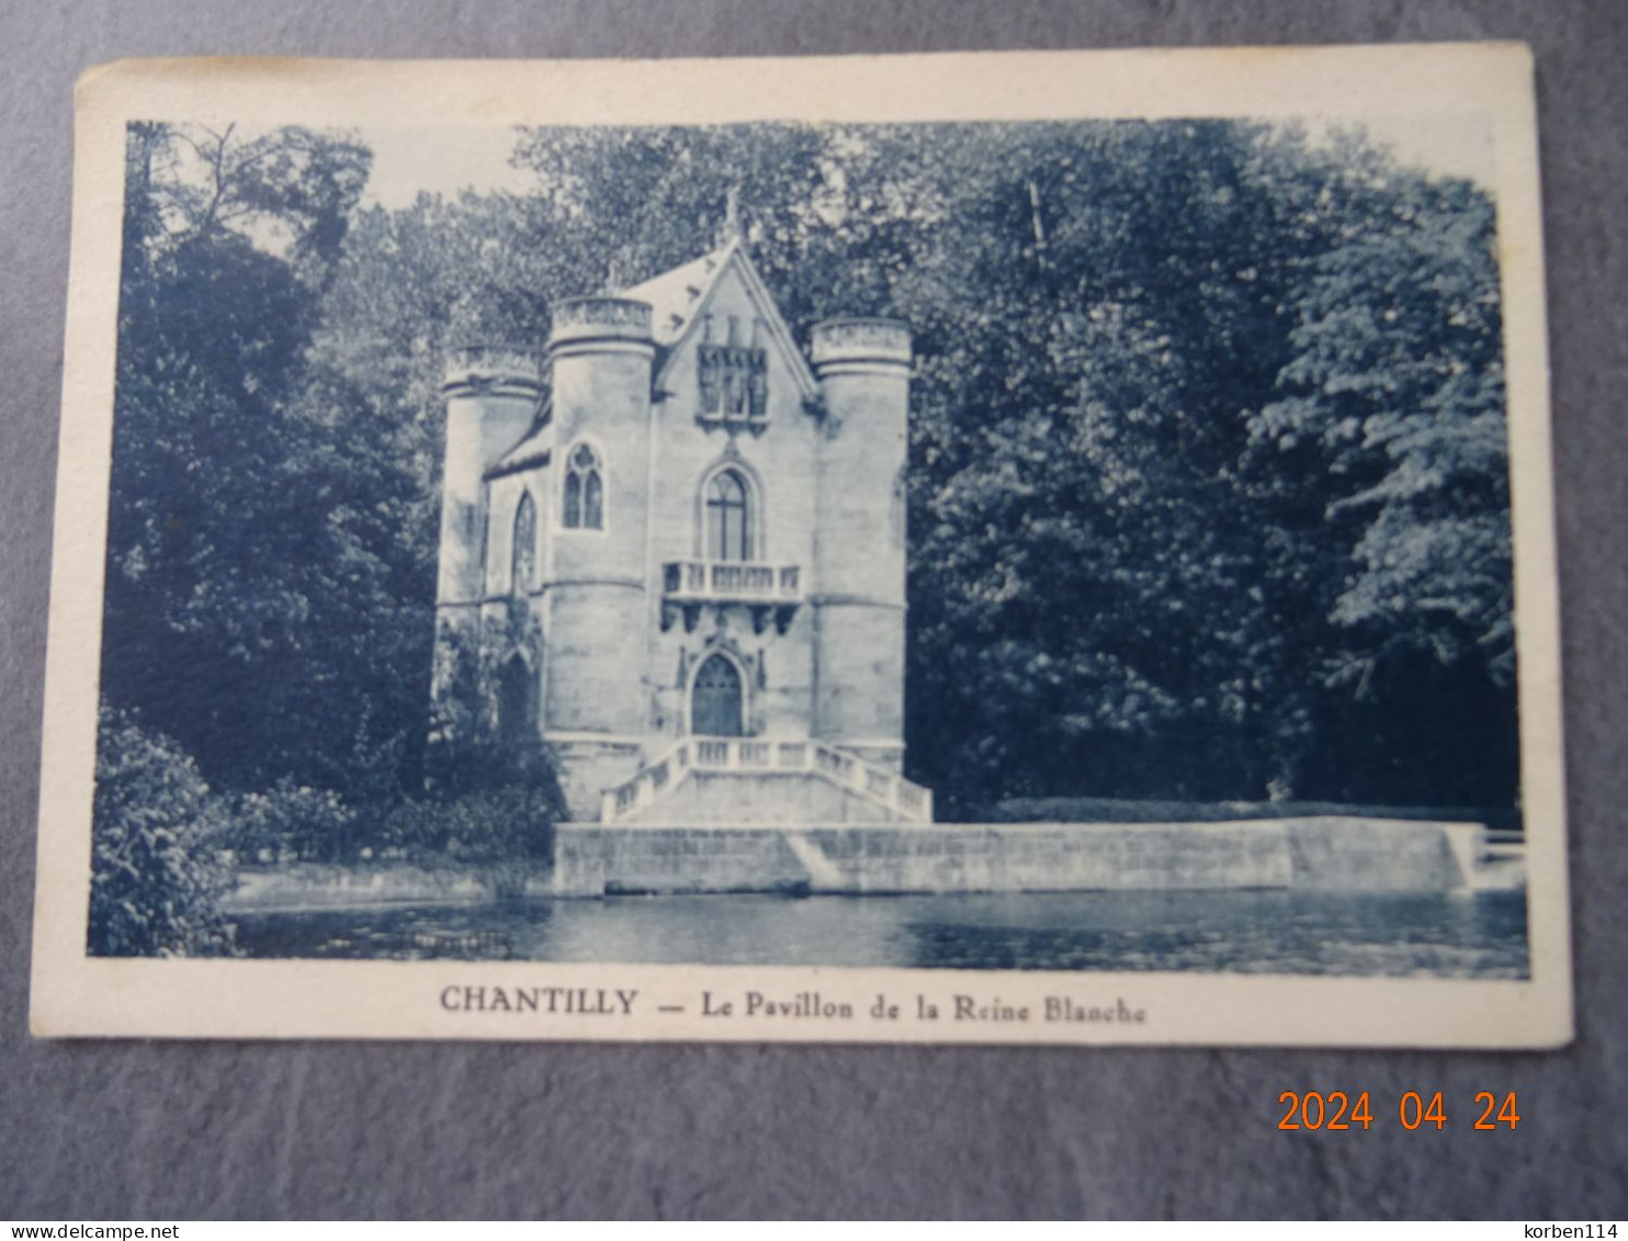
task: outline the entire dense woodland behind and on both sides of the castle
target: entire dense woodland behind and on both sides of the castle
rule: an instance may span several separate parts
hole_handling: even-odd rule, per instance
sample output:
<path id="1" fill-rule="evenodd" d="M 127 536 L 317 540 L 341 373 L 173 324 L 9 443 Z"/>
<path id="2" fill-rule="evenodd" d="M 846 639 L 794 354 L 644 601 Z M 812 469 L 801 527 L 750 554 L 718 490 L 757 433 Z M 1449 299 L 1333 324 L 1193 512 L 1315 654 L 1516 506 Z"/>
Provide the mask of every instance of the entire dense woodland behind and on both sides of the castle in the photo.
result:
<path id="1" fill-rule="evenodd" d="M 794 329 L 915 331 L 908 744 L 944 809 L 1516 801 L 1478 187 L 1219 121 L 514 158 L 534 192 L 361 208 L 357 137 L 132 130 L 103 684 L 210 782 L 332 795 L 347 847 L 436 835 L 400 805 L 444 349 L 539 342 L 557 298 L 710 248 L 739 189 Z"/>

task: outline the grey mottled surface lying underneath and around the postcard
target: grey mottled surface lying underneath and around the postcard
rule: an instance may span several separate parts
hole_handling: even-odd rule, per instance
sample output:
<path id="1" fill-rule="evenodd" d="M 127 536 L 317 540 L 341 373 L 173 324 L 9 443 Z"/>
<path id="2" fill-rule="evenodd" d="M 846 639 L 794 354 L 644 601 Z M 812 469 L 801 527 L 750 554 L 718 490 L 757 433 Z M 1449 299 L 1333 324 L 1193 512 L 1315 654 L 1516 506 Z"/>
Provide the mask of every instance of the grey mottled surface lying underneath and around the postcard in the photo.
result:
<path id="1" fill-rule="evenodd" d="M 1628 1213 L 1628 10 L 1615 0 L 11 0 L 0 7 L 0 1217 Z M 34 1042 L 26 1034 L 72 83 L 133 55 L 702 55 L 1527 39 L 1537 52 L 1579 1036 L 1340 1050 Z M 207 1002 L 207 997 L 200 997 Z M 1283 1090 L 1442 1134 L 1281 1134 Z M 1467 1101 L 1519 1090 L 1516 1132 Z M 1376 1107 L 1376 1111 L 1379 1111 Z"/>

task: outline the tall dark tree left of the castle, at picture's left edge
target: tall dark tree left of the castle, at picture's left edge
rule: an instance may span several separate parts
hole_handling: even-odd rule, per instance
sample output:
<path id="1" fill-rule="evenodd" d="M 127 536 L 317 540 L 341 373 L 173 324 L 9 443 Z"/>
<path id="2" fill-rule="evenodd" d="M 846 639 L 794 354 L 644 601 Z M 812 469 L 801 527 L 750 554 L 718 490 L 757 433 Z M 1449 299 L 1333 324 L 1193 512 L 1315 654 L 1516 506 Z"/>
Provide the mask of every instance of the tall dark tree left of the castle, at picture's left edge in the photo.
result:
<path id="1" fill-rule="evenodd" d="M 303 129 L 130 135 L 104 687 L 228 787 L 378 796 L 422 738 L 399 531 L 423 497 L 311 360 L 370 158 Z"/>

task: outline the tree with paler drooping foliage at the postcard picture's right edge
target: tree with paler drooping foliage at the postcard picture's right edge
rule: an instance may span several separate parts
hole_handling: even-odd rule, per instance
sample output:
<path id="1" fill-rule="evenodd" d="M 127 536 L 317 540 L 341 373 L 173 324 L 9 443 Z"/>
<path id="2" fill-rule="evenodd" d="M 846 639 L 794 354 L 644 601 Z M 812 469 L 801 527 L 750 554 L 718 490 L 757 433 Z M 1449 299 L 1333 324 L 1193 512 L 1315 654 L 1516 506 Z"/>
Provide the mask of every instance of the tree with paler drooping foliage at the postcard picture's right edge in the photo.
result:
<path id="1" fill-rule="evenodd" d="M 1275 479 L 1288 533 L 1278 581 L 1317 583 L 1293 591 L 1324 624 L 1304 660 L 1320 752 L 1302 765 L 1345 796 L 1512 800 L 1493 204 L 1354 135 L 1276 155 L 1293 160 L 1286 213 L 1317 246 L 1294 290 L 1293 357 L 1252 419 L 1252 467 Z"/>

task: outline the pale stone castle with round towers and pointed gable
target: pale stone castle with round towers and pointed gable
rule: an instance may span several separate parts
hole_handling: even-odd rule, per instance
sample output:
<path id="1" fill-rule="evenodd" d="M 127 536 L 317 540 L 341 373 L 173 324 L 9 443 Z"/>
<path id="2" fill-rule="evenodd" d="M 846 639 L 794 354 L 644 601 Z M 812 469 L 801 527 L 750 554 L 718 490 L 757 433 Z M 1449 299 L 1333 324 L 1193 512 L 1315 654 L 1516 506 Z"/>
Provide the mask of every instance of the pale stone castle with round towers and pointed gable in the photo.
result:
<path id="1" fill-rule="evenodd" d="M 908 329 L 827 321 L 804 357 L 729 243 L 555 306 L 544 365 L 448 366 L 438 705 L 549 743 L 575 821 L 659 821 L 698 772 L 737 795 L 672 803 L 728 821 L 768 770 L 845 819 L 930 818 L 899 777 Z"/>

